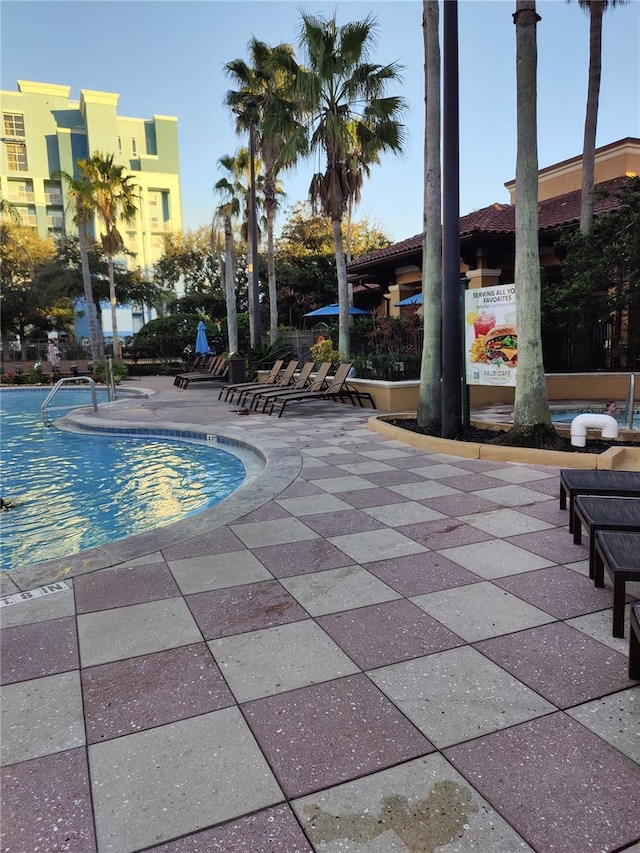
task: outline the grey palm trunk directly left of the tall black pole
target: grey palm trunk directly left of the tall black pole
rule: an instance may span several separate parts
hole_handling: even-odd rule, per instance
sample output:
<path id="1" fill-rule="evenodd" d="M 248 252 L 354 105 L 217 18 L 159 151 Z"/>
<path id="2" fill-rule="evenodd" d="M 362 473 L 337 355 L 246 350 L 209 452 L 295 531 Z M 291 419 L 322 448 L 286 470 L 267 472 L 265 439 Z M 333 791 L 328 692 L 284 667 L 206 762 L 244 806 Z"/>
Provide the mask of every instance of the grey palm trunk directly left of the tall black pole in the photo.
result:
<path id="1" fill-rule="evenodd" d="M 424 337 L 420 368 L 417 426 L 439 432 L 442 420 L 442 189 L 440 168 L 439 2 L 424 0 L 425 52 L 424 251 L 422 305 Z"/>

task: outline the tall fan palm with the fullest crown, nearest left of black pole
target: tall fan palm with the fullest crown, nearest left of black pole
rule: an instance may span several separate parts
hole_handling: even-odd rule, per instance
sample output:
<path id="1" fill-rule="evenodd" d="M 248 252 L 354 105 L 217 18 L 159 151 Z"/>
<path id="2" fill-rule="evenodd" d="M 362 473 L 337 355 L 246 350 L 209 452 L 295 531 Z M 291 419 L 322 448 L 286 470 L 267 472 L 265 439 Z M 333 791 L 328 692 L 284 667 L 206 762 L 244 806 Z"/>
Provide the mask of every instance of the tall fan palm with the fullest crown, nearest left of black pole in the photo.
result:
<path id="1" fill-rule="evenodd" d="M 404 140 L 399 119 L 405 101 L 385 97 L 387 84 L 399 80 L 400 66 L 369 61 L 375 30 L 371 16 L 340 27 L 335 14 L 327 20 L 302 13 L 300 47 L 306 64 L 291 66 L 296 71 L 301 126 L 288 144 L 300 144 L 299 134 L 304 133 L 309 150 L 326 159 L 325 171 L 313 176 L 309 194 L 312 205 L 331 220 L 340 305 L 338 347 L 343 357 L 349 355 L 350 342 L 342 221 L 358 189 L 350 159 L 354 139 L 366 163 L 382 151 L 401 152 Z"/>

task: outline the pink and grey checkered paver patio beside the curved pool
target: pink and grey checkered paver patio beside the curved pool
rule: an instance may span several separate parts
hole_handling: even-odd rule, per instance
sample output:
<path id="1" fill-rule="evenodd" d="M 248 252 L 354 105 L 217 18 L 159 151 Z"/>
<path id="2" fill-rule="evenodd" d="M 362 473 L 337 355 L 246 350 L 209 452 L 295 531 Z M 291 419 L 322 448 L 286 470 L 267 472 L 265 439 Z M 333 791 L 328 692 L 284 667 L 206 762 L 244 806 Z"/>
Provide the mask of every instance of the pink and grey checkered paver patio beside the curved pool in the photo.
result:
<path id="1" fill-rule="evenodd" d="M 640 851 L 628 625 L 557 469 L 153 384 L 93 422 L 235 436 L 266 468 L 2 577 L 3 853 Z"/>

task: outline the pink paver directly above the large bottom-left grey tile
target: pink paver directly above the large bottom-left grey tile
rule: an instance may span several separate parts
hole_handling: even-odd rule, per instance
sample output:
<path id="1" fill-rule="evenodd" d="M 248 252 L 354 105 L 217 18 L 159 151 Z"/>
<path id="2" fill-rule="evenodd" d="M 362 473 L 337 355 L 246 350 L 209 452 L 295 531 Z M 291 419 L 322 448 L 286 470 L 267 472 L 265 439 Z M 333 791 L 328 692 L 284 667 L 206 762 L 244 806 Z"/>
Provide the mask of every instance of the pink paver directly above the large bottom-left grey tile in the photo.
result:
<path id="1" fill-rule="evenodd" d="M 204 643 L 90 667 L 81 677 L 89 743 L 234 704 Z"/>

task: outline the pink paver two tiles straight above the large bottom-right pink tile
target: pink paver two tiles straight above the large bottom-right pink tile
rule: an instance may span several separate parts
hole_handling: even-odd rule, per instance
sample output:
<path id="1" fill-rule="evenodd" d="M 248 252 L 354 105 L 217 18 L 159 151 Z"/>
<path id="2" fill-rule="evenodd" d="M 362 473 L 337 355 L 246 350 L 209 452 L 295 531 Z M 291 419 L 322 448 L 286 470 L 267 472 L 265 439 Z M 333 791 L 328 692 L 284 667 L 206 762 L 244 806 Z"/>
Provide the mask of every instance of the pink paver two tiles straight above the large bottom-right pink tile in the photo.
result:
<path id="1" fill-rule="evenodd" d="M 410 601 L 388 601 L 345 610 L 321 616 L 317 621 L 361 669 L 386 666 L 463 644 L 456 634 Z"/>

